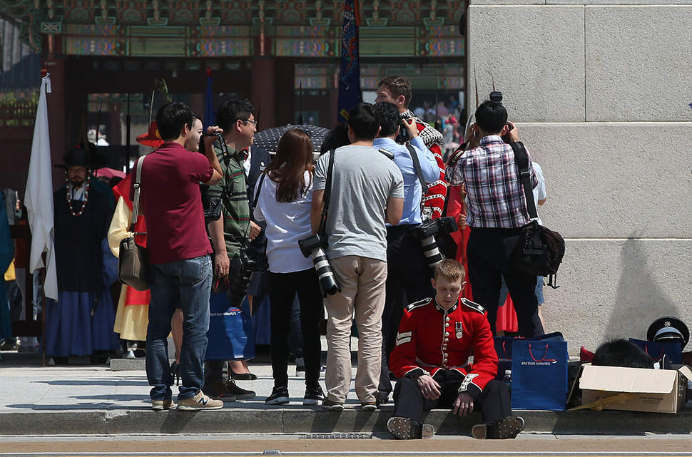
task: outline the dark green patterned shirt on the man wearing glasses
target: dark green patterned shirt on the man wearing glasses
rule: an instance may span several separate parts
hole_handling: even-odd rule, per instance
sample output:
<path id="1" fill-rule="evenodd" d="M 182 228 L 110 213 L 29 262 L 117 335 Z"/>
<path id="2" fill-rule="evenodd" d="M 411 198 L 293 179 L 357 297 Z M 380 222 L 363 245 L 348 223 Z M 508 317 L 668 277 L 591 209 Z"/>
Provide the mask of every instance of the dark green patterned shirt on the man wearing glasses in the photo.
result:
<path id="1" fill-rule="evenodd" d="M 217 185 L 209 188 L 210 197 L 221 197 L 221 218 L 223 219 L 223 238 L 228 257 L 238 257 L 240 250 L 250 243 L 250 202 L 243 174 L 243 151 L 228 150 L 218 156 L 223 178 Z"/>

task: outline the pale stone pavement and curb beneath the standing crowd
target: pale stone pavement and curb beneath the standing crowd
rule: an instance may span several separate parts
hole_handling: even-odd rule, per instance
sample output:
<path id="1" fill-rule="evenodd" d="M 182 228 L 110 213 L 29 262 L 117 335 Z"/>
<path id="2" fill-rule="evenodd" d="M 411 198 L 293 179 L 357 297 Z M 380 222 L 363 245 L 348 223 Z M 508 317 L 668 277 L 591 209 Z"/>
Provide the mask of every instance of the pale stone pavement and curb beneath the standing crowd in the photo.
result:
<path id="1" fill-rule="evenodd" d="M 0 435 L 81 435 L 121 433 L 339 433 L 358 438 L 387 433 L 392 405 L 360 411 L 350 393 L 345 411 L 302 406 L 305 384 L 289 366 L 291 403 L 267 406 L 273 380 L 267 356 L 250 370 L 255 381 L 237 381 L 257 392 L 255 399 L 225 404 L 218 411 L 151 411 L 143 360 L 113 359 L 111 366 L 41 366 L 39 354 L 3 352 L 0 362 Z M 355 371 L 355 367 L 354 367 Z M 302 375 L 302 373 L 300 373 Z M 355 374 L 355 373 L 354 373 Z M 173 389 L 174 395 L 177 394 Z M 692 431 L 692 404 L 678 414 L 629 411 L 515 411 L 526 432 L 574 434 L 676 433 Z M 454 418 L 430 411 L 424 418 L 442 435 L 469 436 L 480 414 Z"/>

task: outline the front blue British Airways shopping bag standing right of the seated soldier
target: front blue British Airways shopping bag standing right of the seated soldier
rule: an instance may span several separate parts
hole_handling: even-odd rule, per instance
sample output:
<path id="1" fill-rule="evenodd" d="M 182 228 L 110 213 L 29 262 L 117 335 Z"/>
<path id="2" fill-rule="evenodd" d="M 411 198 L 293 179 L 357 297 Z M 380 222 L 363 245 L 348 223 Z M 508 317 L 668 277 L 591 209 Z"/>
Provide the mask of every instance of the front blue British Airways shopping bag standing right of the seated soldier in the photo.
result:
<path id="1" fill-rule="evenodd" d="M 512 408 L 564 411 L 567 343 L 517 340 L 512 344 Z"/>

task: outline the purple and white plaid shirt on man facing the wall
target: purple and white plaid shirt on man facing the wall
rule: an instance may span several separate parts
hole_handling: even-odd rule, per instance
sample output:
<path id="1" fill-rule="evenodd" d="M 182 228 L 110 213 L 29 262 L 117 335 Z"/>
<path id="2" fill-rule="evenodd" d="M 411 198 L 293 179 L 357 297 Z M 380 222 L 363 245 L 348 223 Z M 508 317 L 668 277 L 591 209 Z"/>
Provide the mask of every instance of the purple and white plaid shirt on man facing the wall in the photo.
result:
<path id="1" fill-rule="evenodd" d="M 531 187 L 536 187 L 538 178 L 530 155 L 529 169 Z M 469 227 L 517 228 L 529 223 L 514 151 L 499 136 L 481 138 L 477 148 L 464 152 L 450 182 L 466 185 Z"/>

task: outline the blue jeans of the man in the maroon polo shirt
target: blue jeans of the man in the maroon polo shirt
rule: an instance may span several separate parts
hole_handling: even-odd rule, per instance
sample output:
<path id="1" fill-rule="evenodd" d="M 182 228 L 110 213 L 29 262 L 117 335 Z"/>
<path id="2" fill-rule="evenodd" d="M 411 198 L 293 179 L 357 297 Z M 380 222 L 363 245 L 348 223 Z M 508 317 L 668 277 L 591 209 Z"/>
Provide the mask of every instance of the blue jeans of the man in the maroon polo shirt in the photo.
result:
<path id="1" fill-rule="evenodd" d="M 152 400 L 170 399 L 173 376 L 168 366 L 168 334 L 176 308 L 183 310 L 178 400 L 202 389 L 202 360 L 207 350 L 211 260 L 208 255 L 149 266 L 149 325 L 146 334 L 146 377 Z"/>

